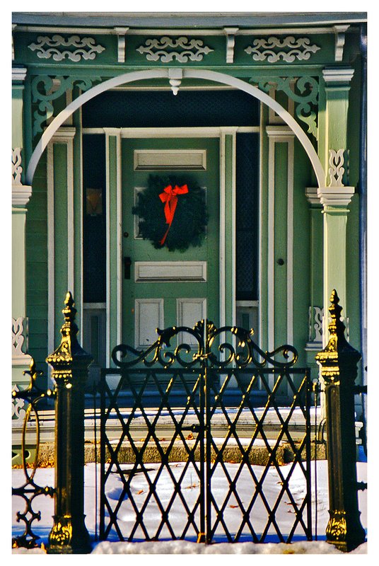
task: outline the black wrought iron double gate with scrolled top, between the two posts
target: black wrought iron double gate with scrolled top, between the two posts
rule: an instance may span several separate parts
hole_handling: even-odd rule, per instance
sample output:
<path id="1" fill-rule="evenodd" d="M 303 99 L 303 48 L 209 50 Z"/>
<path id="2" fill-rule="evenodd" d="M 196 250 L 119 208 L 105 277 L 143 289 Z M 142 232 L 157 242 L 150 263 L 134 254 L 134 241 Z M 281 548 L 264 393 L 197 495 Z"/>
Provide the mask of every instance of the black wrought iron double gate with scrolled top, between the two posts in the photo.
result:
<path id="1" fill-rule="evenodd" d="M 311 384 L 296 350 L 262 352 L 252 332 L 204 320 L 157 333 L 102 370 L 100 538 L 311 540 Z"/>

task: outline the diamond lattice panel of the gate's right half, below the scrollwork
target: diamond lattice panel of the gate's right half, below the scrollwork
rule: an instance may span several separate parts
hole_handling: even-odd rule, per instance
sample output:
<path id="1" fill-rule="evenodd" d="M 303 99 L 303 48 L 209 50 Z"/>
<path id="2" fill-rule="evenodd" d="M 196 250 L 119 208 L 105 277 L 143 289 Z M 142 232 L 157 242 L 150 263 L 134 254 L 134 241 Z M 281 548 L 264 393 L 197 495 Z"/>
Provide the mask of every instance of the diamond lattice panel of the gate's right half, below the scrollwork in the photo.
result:
<path id="1" fill-rule="evenodd" d="M 209 406 L 209 415 L 207 420 L 210 422 L 210 429 L 214 429 L 214 419 L 217 415 L 217 410 L 221 411 L 223 419 L 226 423 L 225 436 L 221 441 L 215 441 L 212 434 L 209 436 L 211 458 L 206 460 L 208 466 L 208 475 L 211 479 L 209 490 L 209 510 L 208 516 L 211 516 L 209 521 L 209 541 L 215 537 L 223 536 L 229 542 L 240 541 L 250 538 L 250 540 L 259 543 L 267 541 L 267 538 L 274 535 L 275 538 L 281 542 L 291 542 L 293 536 L 303 535 L 306 538 L 311 538 L 311 517 L 310 517 L 310 429 L 309 429 L 309 404 L 303 401 L 309 398 L 309 376 L 307 372 L 297 374 L 297 371 L 280 371 L 279 373 L 273 371 L 259 370 L 253 373 L 248 383 L 243 383 L 240 379 L 238 370 L 228 371 L 228 374 L 221 374 L 221 387 L 214 388 L 211 386 L 211 398 Z M 300 386 L 294 383 L 294 376 L 301 376 Z M 237 407 L 231 411 L 228 401 L 223 400 L 223 395 L 228 391 L 228 385 L 234 379 L 237 383 L 237 390 L 239 394 Z M 267 403 L 264 408 L 258 409 L 252 405 L 252 387 L 255 381 L 260 380 L 264 391 L 267 392 Z M 272 379 L 273 384 L 270 384 Z M 282 415 L 283 408 L 280 408 L 276 401 L 276 393 L 283 382 L 286 382 L 288 388 L 293 393 L 293 401 L 289 408 L 286 408 L 286 415 Z M 305 422 L 308 423 L 308 430 L 305 431 L 300 441 L 294 441 L 291 436 L 291 421 L 296 410 L 300 410 Z M 272 420 L 274 415 L 278 427 L 273 434 L 269 434 L 270 427 L 269 421 Z M 219 417 L 218 417 L 219 420 Z M 247 443 L 243 444 L 243 439 L 240 438 L 238 427 L 241 420 L 249 423 L 251 430 L 250 438 Z M 229 473 L 228 467 L 224 462 L 223 454 L 225 453 L 228 444 L 233 443 L 238 446 L 240 452 L 240 462 L 235 465 L 235 475 Z M 291 447 L 293 453 L 293 461 L 291 467 L 282 468 L 279 458 L 280 447 L 283 444 Z M 255 446 L 262 445 L 267 449 L 266 461 L 261 468 L 261 475 L 257 475 L 254 466 L 250 462 L 251 454 Z M 300 473 L 307 489 L 304 490 L 300 501 L 296 501 L 296 497 L 291 492 L 289 485 L 296 465 L 300 466 L 298 473 Z M 286 471 L 284 471 L 284 469 Z M 214 490 L 212 489 L 212 479 L 217 478 L 222 470 L 225 475 L 223 482 L 224 493 L 226 494 L 223 500 L 217 502 L 214 497 Z M 269 475 L 277 476 L 277 484 L 280 489 L 277 494 L 265 493 L 265 480 Z M 251 480 L 251 494 L 247 499 L 240 497 L 238 483 L 242 484 L 245 478 Z M 216 480 L 215 480 L 216 482 Z M 267 485 L 267 483 L 266 483 Z M 276 514 L 279 512 L 279 507 L 286 506 L 287 511 L 290 509 L 293 514 L 293 521 L 287 532 L 284 532 L 284 525 L 279 524 L 276 519 Z M 264 523 L 255 525 L 251 520 L 251 515 L 260 508 L 260 516 L 264 517 Z M 238 509 L 239 524 L 238 530 L 231 533 L 229 521 L 233 524 L 236 523 L 235 509 Z M 255 513 L 257 516 L 257 513 Z M 263 528 L 262 528 L 263 527 Z"/>

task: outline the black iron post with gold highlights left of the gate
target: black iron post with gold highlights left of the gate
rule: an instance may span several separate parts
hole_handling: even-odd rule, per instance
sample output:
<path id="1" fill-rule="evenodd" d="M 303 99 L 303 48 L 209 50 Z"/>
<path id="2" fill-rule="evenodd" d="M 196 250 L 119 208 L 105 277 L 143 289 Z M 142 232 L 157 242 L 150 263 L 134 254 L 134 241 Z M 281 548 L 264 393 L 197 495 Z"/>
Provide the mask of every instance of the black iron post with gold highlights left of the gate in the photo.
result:
<path id="1" fill-rule="evenodd" d="M 66 294 L 62 341 L 47 357 L 56 383 L 54 524 L 48 553 L 89 553 L 90 538 L 84 522 L 84 387 L 90 354 L 78 343 L 76 308 Z"/>

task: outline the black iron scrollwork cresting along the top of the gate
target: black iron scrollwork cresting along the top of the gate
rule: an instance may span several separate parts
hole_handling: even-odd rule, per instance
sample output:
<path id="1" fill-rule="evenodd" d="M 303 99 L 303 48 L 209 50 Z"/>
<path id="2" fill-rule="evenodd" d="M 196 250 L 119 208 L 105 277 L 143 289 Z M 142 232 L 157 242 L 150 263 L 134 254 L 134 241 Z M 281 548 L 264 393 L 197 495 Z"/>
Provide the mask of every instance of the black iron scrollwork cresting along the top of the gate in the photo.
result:
<path id="1" fill-rule="evenodd" d="M 252 340 L 254 330 L 238 326 L 216 328 L 210 320 L 200 320 L 194 328 L 172 326 L 165 330 L 158 328 L 156 332 L 158 340 L 146 350 L 135 350 L 125 344 L 116 346 L 112 350 L 112 361 L 121 369 L 137 364 L 149 367 L 156 363 L 165 369 L 175 363 L 187 369 L 193 366 L 223 369 L 231 364 L 238 368 L 249 364 L 258 368 L 267 364 L 289 368 L 298 359 L 298 352 L 293 346 L 283 345 L 272 352 L 264 352 Z M 186 334 L 194 338 L 194 344 L 185 342 Z M 227 335 L 231 335 L 231 341 L 223 339 Z M 172 347 L 175 337 L 178 337 L 179 343 Z"/>

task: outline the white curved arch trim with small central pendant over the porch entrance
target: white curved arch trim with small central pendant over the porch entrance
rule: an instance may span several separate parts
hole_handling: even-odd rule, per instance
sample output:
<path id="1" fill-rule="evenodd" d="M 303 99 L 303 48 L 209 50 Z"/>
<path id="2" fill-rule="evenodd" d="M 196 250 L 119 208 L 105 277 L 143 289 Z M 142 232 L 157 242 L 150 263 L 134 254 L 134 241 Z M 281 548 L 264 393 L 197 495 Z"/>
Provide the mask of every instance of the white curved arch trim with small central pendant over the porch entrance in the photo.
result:
<path id="1" fill-rule="evenodd" d="M 204 79 L 205 81 L 214 81 L 216 83 L 222 83 L 229 86 L 233 86 L 234 88 L 238 88 L 240 91 L 245 91 L 245 93 L 250 94 L 254 98 L 257 98 L 262 103 L 267 104 L 269 108 L 272 108 L 277 115 L 279 115 L 284 122 L 291 128 L 293 133 L 296 135 L 298 140 L 301 142 L 303 148 L 305 149 L 306 154 L 310 159 L 310 163 L 313 166 L 313 171 L 315 171 L 315 175 L 317 178 L 317 184 L 319 187 L 325 186 L 325 172 L 322 168 L 322 164 L 320 162 L 320 158 L 317 156 L 315 148 L 310 143 L 305 132 L 303 129 L 298 125 L 296 120 L 283 108 L 280 104 L 276 102 L 271 96 L 267 93 L 260 91 L 259 88 L 256 86 L 251 85 L 250 83 L 245 83 L 241 79 L 236 79 L 234 76 L 227 75 L 224 73 L 218 73 L 217 71 L 202 71 L 201 69 L 178 69 L 175 67 L 175 76 L 177 76 L 178 71 L 182 71 L 182 78 L 183 79 Z M 112 79 L 108 79 L 103 83 L 100 83 L 93 88 L 90 88 L 85 93 L 78 96 L 75 100 L 73 100 L 62 112 L 59 112 L 57 117 L 52 120 L 51 124 L 45 129 L 45 132 L 42 134 L 40 141 L 38 142 L 33 154 L 30 158 L 30 162 L 28 165 L 28 170 L 26 171 L 25 175 L 25 183 L 27 185 L 32 185 L 35 169 L 37 168 L 38 161 L 46 149 L 47 144 L 49 143 L 50 139 L 54 136 L 57 129 L 62 126 L 62 124 L 75 112 L 78 108 L 81 107 L 84 103 L 91 100 L 98 94 L 108 91 L 110 88 L 115 88 L 117 86 L 121 86 L 127 83 L 133 83 L 135 81 L 145 81 L 147 79 L 169 79 L 170 78 L 170 69 L 151 69 L 146 71 L 132 71 L 129 73 L 125 73 L 119 76 L 115 76 Z"/>

